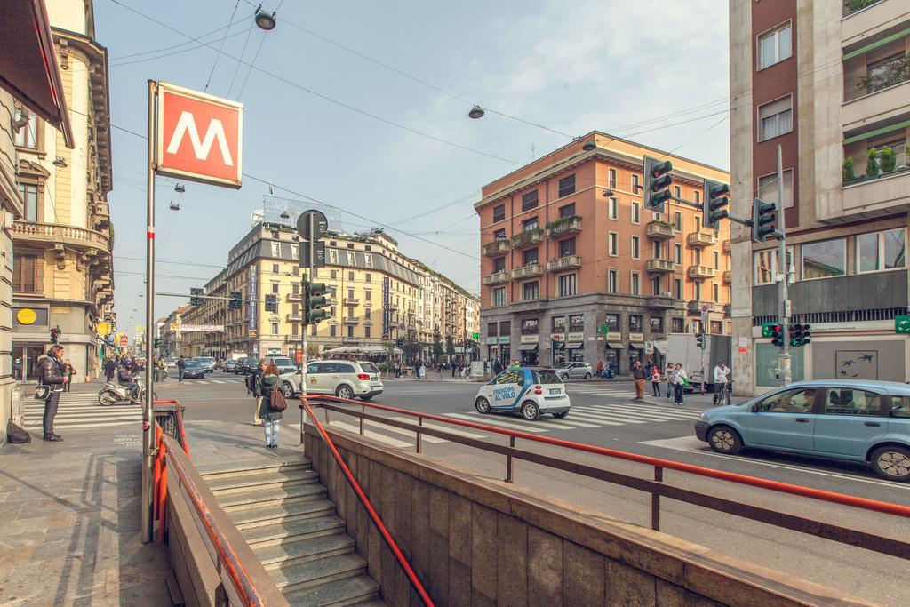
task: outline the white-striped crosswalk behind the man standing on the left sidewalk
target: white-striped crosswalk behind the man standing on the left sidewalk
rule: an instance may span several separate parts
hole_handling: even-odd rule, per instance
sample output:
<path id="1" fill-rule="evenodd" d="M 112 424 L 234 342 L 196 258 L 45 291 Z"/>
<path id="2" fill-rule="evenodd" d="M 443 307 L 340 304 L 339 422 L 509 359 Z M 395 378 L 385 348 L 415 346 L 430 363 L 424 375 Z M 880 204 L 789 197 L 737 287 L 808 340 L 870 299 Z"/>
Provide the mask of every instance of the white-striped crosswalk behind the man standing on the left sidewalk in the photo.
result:
<path id="1" fill-rule="evenodd" d="M 24 405 L 24 424 L 29 430 L 41 430 L 45 413 L 43 400 L 29 400 Z M 92 429 L 104 426 L 135 425 L 141 428 L 142 409 L 138 405 L 122 404 L 102 407 L 94 392 L 64 392 L 54 418 L 54 430 Z"/>

